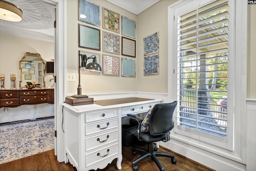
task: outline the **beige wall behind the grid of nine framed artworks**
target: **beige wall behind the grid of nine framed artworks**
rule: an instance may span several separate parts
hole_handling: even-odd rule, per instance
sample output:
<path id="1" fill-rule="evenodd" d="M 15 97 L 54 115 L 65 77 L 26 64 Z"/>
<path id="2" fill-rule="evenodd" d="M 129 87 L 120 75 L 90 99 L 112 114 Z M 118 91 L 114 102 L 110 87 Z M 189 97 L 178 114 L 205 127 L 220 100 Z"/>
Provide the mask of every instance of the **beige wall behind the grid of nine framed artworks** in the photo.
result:
<path id="1" fill-rule="evenodd" d="M 104 8 L 112 10 L 116 13 L 119 13 L 120 16 L 126 16 L 132 20 L 137 21 L 137 16 L 128 12 L 114 4 L 107 2 L 106 0 L 90 0 L 90 2 L 94 2 Z M 78 87 L 78 50 L 93 52 L 100 54 L 100 65 L 102 66 L 102 54 L 110 54 L 106 52 L 102 52 L 102 18 L 101 18 L 101 26 L 93 26 L 91 24 L 87 24 L 85 22 L 78 21 L 78 1 L 68 0 L 67 1 L 67 73 L 76 73 L 76 82 L 67 82 L 67 95 L 72 95 L 77 93 Z M 102 16 L 102 14 L 101 14 Z M 120 20 L 121 22 L 121 20 Z M 101 51 L 89 50 L 85 48 L 78 48 L 78 23 L 83 25 L 88 25 L 90 27 L 94 27 L 100 29 L 100 46 Z M 121 25 L 120 25 L 121 27 Z M 121 33 L 111 32 L 109 30 L 105 30 L 106 32 L 110 32 L 113 34 L 117 34 L 120 36 Z M 121 41 L 120 41 L 121 42 Z M 121 50 L 121 46 L 120 46 Z M 120 58 L 129 58 L 125 56 L 110 54 L 112 56 L 116 56 Z M 136 58 L 129 58 L 136 60 Z M 136 63 L 136 67 L 138 64 Z M 82 94 L 88 93 L 111 93 L 111 92 L 124 92 L 124 91 L 136 91 L 137 90 L 137 80 L 138 73 L 136 73 L 136 78 L 127 78 L 121 77 L 121 63 L 120 63 L 120 76 L 105 76 L 105 75 L 91 75 L 91 74 L 81 74 L 81 87 Z"/>

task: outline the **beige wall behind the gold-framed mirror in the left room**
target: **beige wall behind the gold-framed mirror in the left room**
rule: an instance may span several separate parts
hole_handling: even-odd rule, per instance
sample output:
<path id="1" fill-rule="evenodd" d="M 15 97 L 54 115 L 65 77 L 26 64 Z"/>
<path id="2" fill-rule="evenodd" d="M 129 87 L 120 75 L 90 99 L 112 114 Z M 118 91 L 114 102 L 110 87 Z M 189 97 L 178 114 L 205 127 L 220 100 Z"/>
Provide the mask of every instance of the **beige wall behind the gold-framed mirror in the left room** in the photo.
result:
<path id="1" fill-rule="evenodd" d="M 19 61 L 26 52 L 39 53 L 44 61 L 54 58 L 54 43 L 0 33 L 0 73 L 5 74 L 5 88 L 10 89 L 10 74 L 16 74 L 19 86 Z M 46 81 L 52 75 L 46 74 Z M 50 84 L 50 83 L 49 83 Z M 52 85 L 52 83 L 51 83 Z M 46 87 L 51 86 L 46 83 Z"/>

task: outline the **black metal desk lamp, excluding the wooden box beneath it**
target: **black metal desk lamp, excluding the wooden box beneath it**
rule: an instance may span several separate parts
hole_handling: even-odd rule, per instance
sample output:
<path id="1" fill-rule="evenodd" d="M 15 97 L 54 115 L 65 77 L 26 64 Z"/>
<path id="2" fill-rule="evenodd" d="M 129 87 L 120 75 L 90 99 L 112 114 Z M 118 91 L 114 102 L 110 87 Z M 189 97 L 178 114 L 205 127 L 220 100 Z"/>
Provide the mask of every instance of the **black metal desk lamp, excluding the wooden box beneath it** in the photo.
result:
<path id="1" fill-rule="evenodd" d="M 81 57 L 81 63 L 80 63 L 80 57 Z M 72 97 L 74 97 L 76 99 L 88 98 L 88 95 L 82 95 L 82 87 L 80 84 L 80 77 L 81 77 L 80 76 L 80 68 L 82 67 L 82 68 L 85 68 L 86 70 L 94 70 L 94 71 L 98 71 L 98 72 L 101 72 L 102 70 L 101 70 L 100 64 L 97 63 L 95 55 L 87 57 L 86 54 L 80 54 L 80 51 L 79 51 L 78 58 L 79 58 L 79 66 L 78 66 L 79 73 L 78 73 L 77 94 L 73 95 Z M 91 63 L 89 63 L 88 65 L 86 65 L 88 59 L 93 59 L 93 61 Z"/>

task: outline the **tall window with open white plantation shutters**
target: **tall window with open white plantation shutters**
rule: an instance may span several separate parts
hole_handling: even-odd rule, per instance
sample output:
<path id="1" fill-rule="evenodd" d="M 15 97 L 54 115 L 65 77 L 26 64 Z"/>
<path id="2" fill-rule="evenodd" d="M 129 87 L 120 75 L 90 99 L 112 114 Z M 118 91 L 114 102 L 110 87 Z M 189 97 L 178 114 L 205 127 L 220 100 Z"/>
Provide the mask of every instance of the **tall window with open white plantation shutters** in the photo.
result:
<path id="1" fill-rule="evenodd" d="M 233 141 L 232 8 L 194 0 L 174 10 L 175 132 L 224 148 Z"/>

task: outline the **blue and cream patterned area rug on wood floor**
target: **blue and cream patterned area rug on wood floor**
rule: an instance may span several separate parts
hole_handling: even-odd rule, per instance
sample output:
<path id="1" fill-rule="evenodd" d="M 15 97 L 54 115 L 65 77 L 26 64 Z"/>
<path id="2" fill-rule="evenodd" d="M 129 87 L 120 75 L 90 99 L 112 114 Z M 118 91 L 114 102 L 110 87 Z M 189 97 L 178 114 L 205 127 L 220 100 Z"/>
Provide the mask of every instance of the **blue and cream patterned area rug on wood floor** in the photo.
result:
<path id="1" fill-rule="evenodd" d="M 54 149 L 54 118 L 0 126 L 0 164 Z"/>

